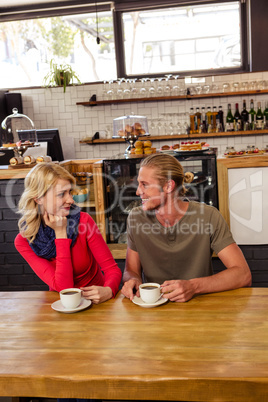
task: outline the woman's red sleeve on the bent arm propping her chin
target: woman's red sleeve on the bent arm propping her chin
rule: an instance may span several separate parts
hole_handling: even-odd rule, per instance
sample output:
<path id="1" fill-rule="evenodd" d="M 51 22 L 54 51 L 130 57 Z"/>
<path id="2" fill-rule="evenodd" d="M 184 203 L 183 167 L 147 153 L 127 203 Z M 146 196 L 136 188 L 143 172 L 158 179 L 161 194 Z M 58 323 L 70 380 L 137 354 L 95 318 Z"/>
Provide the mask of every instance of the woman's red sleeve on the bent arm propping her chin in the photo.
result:
<path id="1" fill-rule="evenodd" d="M 46 260 L 38 257 L 29 246 L 28 241 L 20 234 L 15 239 L 15 247 L 28 262 L 36 275 L 50 289 L 60 292 L 62 289 L 74 286 L 73 267 L 71 259 L 71 239 L 56 239 L 56 260 Z"/>

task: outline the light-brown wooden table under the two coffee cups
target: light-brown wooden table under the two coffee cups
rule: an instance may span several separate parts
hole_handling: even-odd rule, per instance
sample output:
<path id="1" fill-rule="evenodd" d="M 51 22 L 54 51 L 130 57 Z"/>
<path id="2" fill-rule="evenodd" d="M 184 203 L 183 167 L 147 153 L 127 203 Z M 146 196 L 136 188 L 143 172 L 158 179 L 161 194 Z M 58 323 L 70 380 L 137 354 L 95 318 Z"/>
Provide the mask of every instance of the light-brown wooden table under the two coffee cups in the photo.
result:
<path id="1" fill-rule="evenodd" d="M 0 293 L 0 395 L 262 402 L 268 289 L 141 308 L 116 299 L 76 314 L 56 292 Z"/>

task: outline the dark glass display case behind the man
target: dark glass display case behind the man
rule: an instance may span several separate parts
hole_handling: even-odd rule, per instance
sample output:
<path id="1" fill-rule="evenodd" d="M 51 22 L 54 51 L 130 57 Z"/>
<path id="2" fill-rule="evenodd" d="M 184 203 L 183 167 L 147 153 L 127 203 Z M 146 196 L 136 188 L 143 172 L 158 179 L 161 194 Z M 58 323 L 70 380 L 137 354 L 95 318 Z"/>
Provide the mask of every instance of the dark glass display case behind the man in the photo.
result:
<path id="1" fill-rule="evenodd" d="M 193 173 L 191 183 L 185 184 L 185 198 L 205 202 L 218 208 L 217 156 L 215 151 L 176 153 L 184 173 Z M 106 230 L 108 243 L 126 243 L 126 221 L 129 212 L 141 205 L 136 195 L 137 177 L 142 159 L 139 155 L 114 156 L 103 161 L 106 197 Z"/>

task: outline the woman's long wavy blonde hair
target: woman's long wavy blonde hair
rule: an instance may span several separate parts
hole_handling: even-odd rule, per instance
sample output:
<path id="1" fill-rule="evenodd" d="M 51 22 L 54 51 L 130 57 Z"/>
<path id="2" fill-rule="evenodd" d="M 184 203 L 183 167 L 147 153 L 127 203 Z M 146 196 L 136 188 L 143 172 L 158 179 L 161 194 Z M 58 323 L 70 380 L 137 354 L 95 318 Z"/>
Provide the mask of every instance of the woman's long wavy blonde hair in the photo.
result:
<path id="1" fill-rule="evenodd" d="M 21 195 L 18 213 L 19 230 L 23 237 L 33 242 L 41 224 L 37 198 L 43 197 L 56 182 L 68 180 L 75 184 L 75 178 L 64 168 L 55 163 L 40 163 L 34 166 L 24 180 L 24 191 Z"/>

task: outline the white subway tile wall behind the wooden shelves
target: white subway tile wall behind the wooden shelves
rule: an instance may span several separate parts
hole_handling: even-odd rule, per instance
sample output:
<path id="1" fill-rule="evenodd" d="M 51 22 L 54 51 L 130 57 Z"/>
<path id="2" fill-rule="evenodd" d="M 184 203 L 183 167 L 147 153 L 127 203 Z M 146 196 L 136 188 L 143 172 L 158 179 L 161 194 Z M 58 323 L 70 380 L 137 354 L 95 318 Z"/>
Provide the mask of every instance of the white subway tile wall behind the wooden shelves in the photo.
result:
<path id="1" fill-rule="evenodd" d="M 231 86 L 233 82 L 251 82 L 266 81 L 268 85 L 268 71 L 260 73 L 246 73 L 236 75 L 222 75 L 206 78 L 206 84 L 216 84 L 222 89 L 222 84 L 228 82 Z M 158 102 L 135 102 L 122 105 L 105 105 L 85 107 L 76 105 L 77 102 L 86 102 L 93 94 L 97 94 L 97 99 L 102 94 L 102 84 L 80 85 L 67 87 L 66 92 L 62 88 L 29 88 L 14 90 L 22 94 L 23 112 L 29 116 L 37 129 L 58 128 L 65 159 L 91 159 L 107 158 L 109 156 L 123 153 L 128 144 L 102 144 L 87 145 L 80 144 L 79 141 L 85 137 L 92 137 L 96 132 L 100 133 L 101 138 L 113 134 L 113 119 L 116 117 L 129 115 L 131 113 L 146 116 L 149 127 L 152 122 L 152 135 L 157 135 L 157 120 L 159 117 L 168 118 L 167 114 L 178 114 L 177 121 L 183 125 L 184 121 L 189 119 L 188 113 L 191 107 L 222 106 L 224 116 L 227 113 L 227 105 L 231 103 L 232 111 L 235 110 L 235 103 L 239 104 L 242 110 L 243 99 L 246 100 L 249 110 L 250 99 L 254 100 L 254 106 L 261 102 L 262 108 L 265 101 L 268 100 L 267 94 L 232 96 L 219 98 L 204 98 L 193 100 L 178 101 L 158 101 Z M 150 130 L 149 130 L 150 131 Z M 161 130 L 160 130 L 161 133 Z M 74 148 L 65 146 L 70 143 L 70 138 L 74 140 Z M 66 141 L 65 141 L 66 139 Z M 69 139 L 69 140 L 68 140 Z M 202 141 L 204 141 L 202 139 Z M 252 136 L 239 137 L 221 137 L 209 138 L 206 140 L 210 146 L 218 147 L 218 154 L 222 155 L 227 146 L 234 146 L 237 149 L 245 148 L 247 145 L 256 145 L 263 147 L 268 144 L 268 134 L 257 134 Z M 153 146 L 160 148 L 161 145 L 173 145 L 178 143 L 178 139 L 163 141 L 153 141 Z"/>

